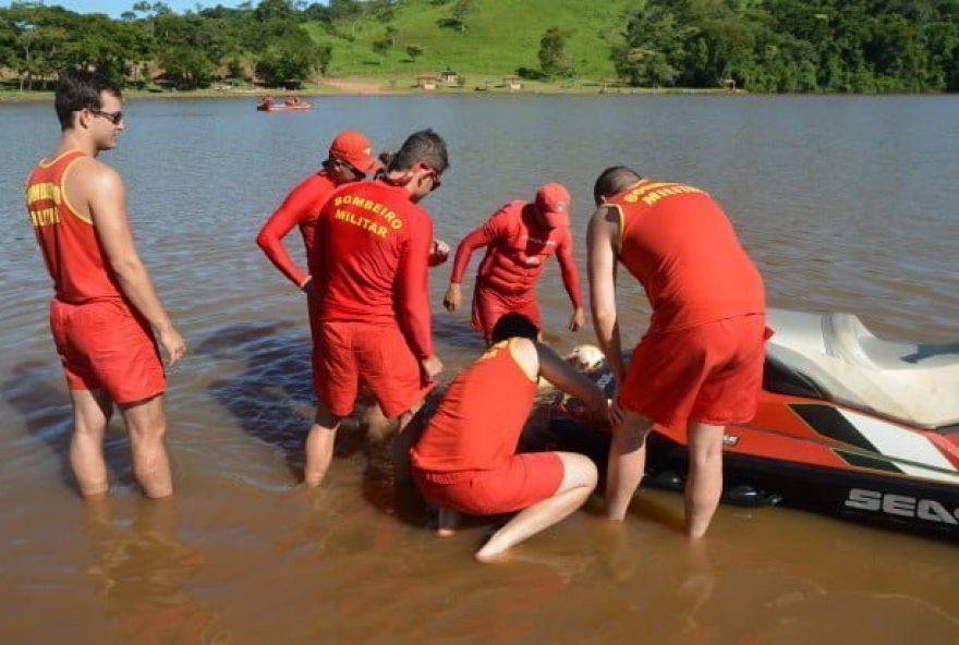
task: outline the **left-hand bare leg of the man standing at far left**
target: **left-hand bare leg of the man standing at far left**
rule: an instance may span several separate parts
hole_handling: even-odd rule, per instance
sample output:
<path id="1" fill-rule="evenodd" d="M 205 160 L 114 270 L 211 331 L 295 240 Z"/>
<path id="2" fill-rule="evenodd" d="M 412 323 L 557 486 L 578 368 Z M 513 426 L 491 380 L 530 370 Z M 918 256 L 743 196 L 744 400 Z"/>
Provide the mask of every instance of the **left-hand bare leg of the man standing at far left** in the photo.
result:
<path id="1" fill-rule="evenodd" d="M 104 461 L 104 431 L 113 404 L 102 390 L 71 390 L 73 436 L 70 465 L 83 497 L 106 495 L 107 464 Z"/>

